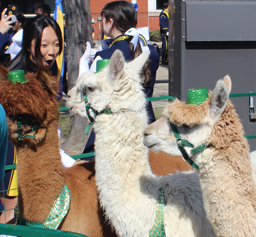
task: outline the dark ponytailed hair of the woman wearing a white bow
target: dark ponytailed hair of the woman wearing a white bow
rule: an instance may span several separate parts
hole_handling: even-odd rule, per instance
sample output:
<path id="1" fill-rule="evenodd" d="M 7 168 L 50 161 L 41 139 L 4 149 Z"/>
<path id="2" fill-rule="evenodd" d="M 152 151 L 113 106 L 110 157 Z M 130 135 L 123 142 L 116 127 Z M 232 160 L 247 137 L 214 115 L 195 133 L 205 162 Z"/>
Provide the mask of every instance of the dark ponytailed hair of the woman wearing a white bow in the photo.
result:
<path id="1" fill-rule="evenodd" d="M 106 20 L 113 20 L 113 24 L 116 28 L 124 34 L 130 28 L 136 28 L 137 26 L 137 12 L 134 6 L 127 1 L 115 1 L 108 3 L 104 6 L 101 11 L 101 17 L 105 17 Z M 134 51 L 134 44 L 131 43 L 132 37 L 128 39 L 130 42 L 130 50 L 132 52 L 133 58 L 138 57 L 141 53 L 141 46 L 138 40 L 136 49 Z M 142 75 L 143 82 L 150 81 L 150 69 L 149 60 L 144 66 L 144 73 Z"/>

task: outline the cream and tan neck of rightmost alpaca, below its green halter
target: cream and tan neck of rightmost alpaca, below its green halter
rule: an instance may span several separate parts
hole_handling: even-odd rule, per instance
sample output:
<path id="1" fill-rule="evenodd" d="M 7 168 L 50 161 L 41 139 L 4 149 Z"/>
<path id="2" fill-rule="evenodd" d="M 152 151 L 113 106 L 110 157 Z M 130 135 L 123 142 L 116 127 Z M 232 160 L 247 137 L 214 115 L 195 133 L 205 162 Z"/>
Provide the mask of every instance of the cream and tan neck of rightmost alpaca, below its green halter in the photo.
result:
<path id="1" fill-rule="evenodd" d="M 256 192 L 245 147 L 206 149 L 197 158 L 204 163 L 198 171 L 200 185 L 217 236 L 256 236 Z"/>

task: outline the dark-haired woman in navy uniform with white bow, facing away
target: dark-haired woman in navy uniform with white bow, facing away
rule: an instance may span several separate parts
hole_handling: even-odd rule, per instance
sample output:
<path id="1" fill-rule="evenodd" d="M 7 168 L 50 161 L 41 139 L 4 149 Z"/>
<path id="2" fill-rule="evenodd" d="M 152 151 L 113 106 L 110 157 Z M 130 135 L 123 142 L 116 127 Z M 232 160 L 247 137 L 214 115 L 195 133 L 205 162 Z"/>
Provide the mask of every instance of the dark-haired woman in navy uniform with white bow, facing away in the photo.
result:
<path id="1" fill-rule="evenodd" d="M 96 72 L 96 63 L 101 59 L 110 59 L 116 50 L 120 50 L 126 61 L 131 61 L 138 57 L 143 50 L 150 50 L 150 59 L 144 66 L 142 79 L 147 97 L 152 97 L 153 88 L 156 80 L 156 71 L 159 66 L 159 54 L 153 45 L 146 45 L 146 40 L 135 29 L 137 26 L 137 13 L 134 6 L 127 1 L 115 1 L 108 3 L 101 11 L 102 28 L 105 36 L 112 39 L 109 48 L 95 54 L 94 61 L 89 69 L 89 61 L 92 53 L 91 45 L 87 42 L 87 49 L 80 59 L 79 76 L 84 72 Z M 140 40 L 142 38 L 142 40 Z M 145 44 L 142 43 L 145 42 Z M 150 123 L 156 121 L 151 102 L 147 105 Z M 83 153 L 93 152 L 94 150 L 94 131 L 88 139 Z"/>

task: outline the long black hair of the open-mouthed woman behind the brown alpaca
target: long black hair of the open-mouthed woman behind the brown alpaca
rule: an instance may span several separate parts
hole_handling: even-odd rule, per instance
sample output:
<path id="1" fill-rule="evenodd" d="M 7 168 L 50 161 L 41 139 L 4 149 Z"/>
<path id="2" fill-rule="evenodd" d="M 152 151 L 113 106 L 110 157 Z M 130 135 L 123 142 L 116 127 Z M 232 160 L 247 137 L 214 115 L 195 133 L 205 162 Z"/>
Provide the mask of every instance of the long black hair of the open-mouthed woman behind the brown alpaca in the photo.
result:
<path id="1" fill-rule="evenodd" d="M 42 32 L 45 28 L 52 27 L 59 40 L 59 54 L 62 51 L 62 34 L 58 23 L 51 17 L 38 15 L 31 18 L 23 29 L 22 50 L 6 66 L 9 70 L 22 67 L 25 72 L 31 72 L 30 52 L 31 42 L 35 39 L 35 56 L 42 56 L 40 51 Z"/>

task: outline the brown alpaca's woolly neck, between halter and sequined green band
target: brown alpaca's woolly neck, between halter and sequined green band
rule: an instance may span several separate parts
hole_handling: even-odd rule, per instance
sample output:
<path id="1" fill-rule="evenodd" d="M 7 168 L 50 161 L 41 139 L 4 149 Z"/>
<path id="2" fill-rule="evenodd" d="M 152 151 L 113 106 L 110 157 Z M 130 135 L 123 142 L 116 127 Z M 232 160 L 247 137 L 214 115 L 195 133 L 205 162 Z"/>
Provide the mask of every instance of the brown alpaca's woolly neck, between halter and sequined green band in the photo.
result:
<path id="1" fill-rule="evenodd" d="M 18 203 L 23 217 L 44 222 L 64 184 L 57 123 L 48 124 L 44 139 L 34 147 L 17 146 Z"/>

